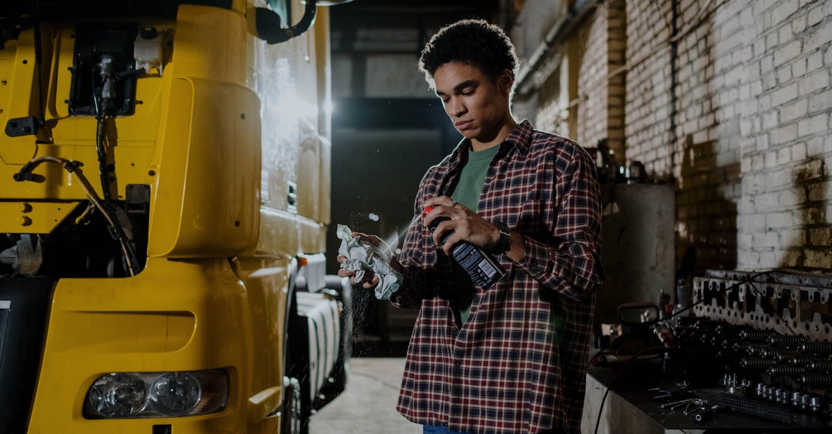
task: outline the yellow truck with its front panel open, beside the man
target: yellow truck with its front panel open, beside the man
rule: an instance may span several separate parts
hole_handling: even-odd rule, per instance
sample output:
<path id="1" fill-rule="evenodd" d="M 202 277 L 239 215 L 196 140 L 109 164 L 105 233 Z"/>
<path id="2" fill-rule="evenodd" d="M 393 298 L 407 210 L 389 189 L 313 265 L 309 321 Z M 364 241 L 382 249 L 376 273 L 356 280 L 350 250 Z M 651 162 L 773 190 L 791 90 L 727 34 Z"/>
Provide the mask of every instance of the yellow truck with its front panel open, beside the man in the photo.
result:
<path id="1" fill-rule="evenodd" d="M 306 432 L 343 390 L 320 3 L 0 7 L 0 432 Z"/>

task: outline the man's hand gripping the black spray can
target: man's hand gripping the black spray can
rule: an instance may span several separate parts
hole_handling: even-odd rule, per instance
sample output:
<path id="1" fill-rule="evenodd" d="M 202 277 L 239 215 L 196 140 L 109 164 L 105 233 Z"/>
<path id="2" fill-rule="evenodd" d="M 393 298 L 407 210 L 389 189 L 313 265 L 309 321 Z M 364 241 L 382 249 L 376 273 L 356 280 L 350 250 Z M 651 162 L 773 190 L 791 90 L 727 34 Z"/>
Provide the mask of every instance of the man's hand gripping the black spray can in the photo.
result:
<path id="1" fill-rule="evenodd" d="M 433 210 L 423 219 L 425 226 L 439 216 L 450 218 L 450 220 L 440 222 L 433 231 L 433 242 L 436 245 L 439 245 L 442 234 L 449 230 L 454 231 L 454 234 L 445 240 L 445 244 L 441 245 L 445 254 L 450 255 L 453 245 L 462 240 L 488 249 L 497 244 L 500 238 L 500 229 L 497 226 L 448 196 L 434 197 L 425 202 L 424 206 L 425 208 L 433 206 Z"/>

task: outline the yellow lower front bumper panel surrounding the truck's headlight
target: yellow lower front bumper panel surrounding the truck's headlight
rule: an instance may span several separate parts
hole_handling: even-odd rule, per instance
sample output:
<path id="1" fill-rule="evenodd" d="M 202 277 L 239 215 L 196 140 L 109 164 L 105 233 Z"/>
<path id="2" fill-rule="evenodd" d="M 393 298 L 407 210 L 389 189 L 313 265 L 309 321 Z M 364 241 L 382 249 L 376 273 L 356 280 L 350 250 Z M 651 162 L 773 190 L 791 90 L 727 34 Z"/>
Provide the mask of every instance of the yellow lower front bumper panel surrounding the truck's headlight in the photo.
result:
<path id="1" fill-rule="evenodd" d="M 132 278 L 60 279 L 27 431 L 248 432 L 249 328 L 245 288 L 225 259 L 153 259 Z M 107 373 L 218 368 L 229 377 L 220 412 L 135 419 L 82 414 L 92 382 Z"/>

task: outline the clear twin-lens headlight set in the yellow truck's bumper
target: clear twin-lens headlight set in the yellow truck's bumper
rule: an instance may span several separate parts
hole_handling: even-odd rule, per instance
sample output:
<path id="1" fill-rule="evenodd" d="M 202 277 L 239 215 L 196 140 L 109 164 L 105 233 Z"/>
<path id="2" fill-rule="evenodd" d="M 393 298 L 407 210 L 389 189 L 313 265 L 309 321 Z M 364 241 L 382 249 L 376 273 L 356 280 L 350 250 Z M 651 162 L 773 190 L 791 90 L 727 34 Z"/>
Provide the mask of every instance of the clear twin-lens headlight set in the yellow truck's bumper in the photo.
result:
<path id="1" fill-rule="evenodd" d="M 220 412 L 228 403 L 222 369 L 183 372 L 114 372 L 87 391 L 87 419 L 182 417 Z"/>

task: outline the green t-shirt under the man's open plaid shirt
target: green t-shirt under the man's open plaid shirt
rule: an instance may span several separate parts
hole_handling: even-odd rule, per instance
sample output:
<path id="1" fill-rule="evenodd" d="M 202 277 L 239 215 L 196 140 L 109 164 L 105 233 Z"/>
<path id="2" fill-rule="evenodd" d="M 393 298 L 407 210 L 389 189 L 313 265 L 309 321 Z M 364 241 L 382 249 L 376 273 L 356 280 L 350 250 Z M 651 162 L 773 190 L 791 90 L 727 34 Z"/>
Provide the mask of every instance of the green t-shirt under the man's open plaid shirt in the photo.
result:
<path id="1" fill-rule="evenodd" d="M 479 195 L 483 192 L 483 184 L 485 183 L 485 175 L 488 174 L 488 167 L 500 146 L 492 146 L 487 150 L 475 151 L 470 148 L 468 151 L 468 162 L 465 163 L 462 173 L 459 174 L 459 182 L 457 187 L 453 190 L 451 199 L 456 200 L 462 205 L 468 207 L 469 210 L 477 212 L 479 205 Z M 458 288 L 456 297 L 457 308 L 459 308 L 459 317 L 464 324 L 468 320 L 468 315 L 471 313 L 471 300 L 473 300 L 473 288 Z"/>

